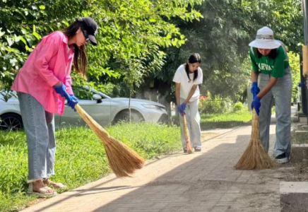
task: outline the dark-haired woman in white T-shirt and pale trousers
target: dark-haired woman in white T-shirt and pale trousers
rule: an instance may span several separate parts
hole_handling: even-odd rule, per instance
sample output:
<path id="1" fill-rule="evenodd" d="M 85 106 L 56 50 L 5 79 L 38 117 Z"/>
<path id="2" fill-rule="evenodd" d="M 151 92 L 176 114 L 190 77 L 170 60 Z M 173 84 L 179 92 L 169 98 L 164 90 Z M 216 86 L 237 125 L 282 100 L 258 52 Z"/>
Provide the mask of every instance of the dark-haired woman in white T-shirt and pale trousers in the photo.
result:
<path id="1" fill-rule="evenodd" d="M 201 129 L 199 114 L 199 84 L 203 81 L 200 68 L 201 57 L 198 53 L 191 54 L 186 64 L 179 66 L 174 74 L 175 98 L 179 110 L 179 124 L 184 153 L 187 152 L 183 129 L 183 114 L 186 114 L 187 126 L 191 136 L 191 146 L 196 152 L 201 151 Z"/>

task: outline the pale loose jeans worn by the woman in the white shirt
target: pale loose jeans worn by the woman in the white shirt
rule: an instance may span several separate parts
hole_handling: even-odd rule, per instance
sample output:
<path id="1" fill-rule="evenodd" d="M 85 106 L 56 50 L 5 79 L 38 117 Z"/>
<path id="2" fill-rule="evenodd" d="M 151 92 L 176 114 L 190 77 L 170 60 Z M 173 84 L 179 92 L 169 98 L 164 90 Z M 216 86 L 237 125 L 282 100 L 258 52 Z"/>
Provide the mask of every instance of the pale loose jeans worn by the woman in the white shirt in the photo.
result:
<path id="1" fill-rule="evenodd" d="M 181 98 L 181 104 L 185 100 Z M 201 147 L 201 129 L 200 129 L 200 114 L 199 114 L 199 99 L 189 102 L 185 110 L 187 128 L 189 130 L 190 141 L 192 147 Z M 179 114 L 179 126 L 181 128 L 182 147 L 186 148 L 186 139 L 184 134 L 184 123 L 182 114 Z"/>

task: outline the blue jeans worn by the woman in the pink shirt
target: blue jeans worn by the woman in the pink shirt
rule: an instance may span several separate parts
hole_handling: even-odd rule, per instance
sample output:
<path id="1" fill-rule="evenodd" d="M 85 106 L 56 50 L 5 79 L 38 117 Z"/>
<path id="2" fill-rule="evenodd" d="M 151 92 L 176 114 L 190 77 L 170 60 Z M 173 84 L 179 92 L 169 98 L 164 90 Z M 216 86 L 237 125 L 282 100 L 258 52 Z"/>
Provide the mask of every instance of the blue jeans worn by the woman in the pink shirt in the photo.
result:
<path id="1" fill-rule="evenodd" d="M 28 182 L 47 179 L 54 175 L 54 114 L 32 95 L 18 93 L 18 100 L 28 143 Z"/>

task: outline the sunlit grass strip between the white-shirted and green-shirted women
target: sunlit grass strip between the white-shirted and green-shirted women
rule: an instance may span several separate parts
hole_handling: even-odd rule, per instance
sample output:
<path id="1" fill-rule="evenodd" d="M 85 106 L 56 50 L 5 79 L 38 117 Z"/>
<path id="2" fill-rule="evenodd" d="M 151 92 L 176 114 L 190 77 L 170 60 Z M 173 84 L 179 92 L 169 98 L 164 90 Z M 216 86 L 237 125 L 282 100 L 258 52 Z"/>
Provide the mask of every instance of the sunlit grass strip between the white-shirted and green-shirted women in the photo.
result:
<path id="1" fill-rule="evenodd" d="M 252 114 L 247 110 L 225 114 L 201 114 L 201 130 L 231 128 L 251 121 Z"/>

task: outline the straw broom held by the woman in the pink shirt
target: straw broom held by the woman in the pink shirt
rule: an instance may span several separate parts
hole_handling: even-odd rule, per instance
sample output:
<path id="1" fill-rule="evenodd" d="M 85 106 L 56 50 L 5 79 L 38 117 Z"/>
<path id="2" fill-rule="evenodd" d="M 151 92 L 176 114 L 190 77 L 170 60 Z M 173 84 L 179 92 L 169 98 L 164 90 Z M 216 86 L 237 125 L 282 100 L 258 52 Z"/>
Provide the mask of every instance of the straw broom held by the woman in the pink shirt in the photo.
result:
<path id="1" fill-rule="evenodd" d="M 129 177 L 135 170 L 143 167 L 143 158 L 131 148 L 125 146 L 124 143 L 109 136 L 108 132 L 100 124 L 97 124 L 80 105 L 76 104 L 75 109 L 104 144 L 109 166 L 117 177 Z"/>

